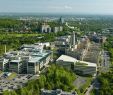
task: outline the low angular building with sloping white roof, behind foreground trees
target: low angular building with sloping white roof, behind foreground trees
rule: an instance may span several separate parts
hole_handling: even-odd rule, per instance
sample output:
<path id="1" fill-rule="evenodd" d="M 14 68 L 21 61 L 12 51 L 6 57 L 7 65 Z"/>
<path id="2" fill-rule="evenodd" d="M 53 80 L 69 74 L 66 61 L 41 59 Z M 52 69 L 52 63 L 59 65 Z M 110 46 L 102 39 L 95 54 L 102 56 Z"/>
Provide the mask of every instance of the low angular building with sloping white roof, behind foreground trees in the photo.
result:
<path id="1" fill-rule="evenodd" d="M 80 61 L 67 55 L 61 55 L 56 64 L 82 75 L 94 75 L 97 72 L 96 63 Z"/>

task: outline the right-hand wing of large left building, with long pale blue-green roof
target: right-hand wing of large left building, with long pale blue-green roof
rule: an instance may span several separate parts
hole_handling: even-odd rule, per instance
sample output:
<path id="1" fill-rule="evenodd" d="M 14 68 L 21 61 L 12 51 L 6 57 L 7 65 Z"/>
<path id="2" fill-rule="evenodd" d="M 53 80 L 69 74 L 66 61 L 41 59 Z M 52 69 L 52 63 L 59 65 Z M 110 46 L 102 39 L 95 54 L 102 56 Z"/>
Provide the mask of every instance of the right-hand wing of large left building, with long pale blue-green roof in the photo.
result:
<path id="1" fill-rule="evenodd" d="M 32 54 L 32 57 L 28 60 L 27 73 L 39 73 L 49 63 L 50 59 L 50 51 Z"/>

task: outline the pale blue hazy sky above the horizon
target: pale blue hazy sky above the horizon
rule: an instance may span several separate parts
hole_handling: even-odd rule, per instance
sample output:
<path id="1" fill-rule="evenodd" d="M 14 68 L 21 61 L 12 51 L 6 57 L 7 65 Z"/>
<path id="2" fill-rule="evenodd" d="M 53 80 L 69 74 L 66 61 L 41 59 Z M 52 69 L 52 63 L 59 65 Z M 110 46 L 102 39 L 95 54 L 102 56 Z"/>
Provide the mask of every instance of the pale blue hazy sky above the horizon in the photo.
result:
<path id="1" fill-rule="evenodd" d="M 0 12 L 113 14 L 113 0 L 0 0 Z"/>

